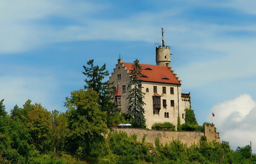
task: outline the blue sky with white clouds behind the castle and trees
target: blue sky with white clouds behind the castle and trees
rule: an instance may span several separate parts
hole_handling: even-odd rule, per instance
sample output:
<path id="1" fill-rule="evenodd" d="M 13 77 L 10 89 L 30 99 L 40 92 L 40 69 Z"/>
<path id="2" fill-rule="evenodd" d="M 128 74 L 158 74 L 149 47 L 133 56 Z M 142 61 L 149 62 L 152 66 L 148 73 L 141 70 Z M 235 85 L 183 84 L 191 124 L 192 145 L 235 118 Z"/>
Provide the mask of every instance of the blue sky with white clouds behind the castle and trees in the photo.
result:
<path id="1" fill-rule="evenodd" d="M 27 100 L 65 112 L 87 61 L 109 73 L 119 55 L 156 64 L 163 27 L 198 124 L 216 124 L 232 149 L 256 145 L 255 8 L 253 0 L 2 0 L 0 99 L 8 112 Z"/>

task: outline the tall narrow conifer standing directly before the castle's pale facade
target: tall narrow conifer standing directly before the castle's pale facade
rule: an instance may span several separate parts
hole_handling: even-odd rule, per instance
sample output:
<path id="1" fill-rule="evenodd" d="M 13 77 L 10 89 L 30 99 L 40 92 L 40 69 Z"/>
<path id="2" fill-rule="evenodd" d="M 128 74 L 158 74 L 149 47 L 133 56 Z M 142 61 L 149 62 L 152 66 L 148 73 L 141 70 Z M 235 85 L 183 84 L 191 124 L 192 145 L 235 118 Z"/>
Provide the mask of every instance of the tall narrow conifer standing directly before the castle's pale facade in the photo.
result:
<path id="1" fill-rule="evenodd" d="M 127 100 L 129 101 L 128 114 L 132 118 L 132 126 L 135 128 L 145 128 L 145 110 L 143 105 L 145 105 L 143 98 L 145 93 L 141 91 L 141 66 L 136 59 L 132 65 L 132 70 L 130 71 L 130 82 L 128 84 L 129 96 Z"/>

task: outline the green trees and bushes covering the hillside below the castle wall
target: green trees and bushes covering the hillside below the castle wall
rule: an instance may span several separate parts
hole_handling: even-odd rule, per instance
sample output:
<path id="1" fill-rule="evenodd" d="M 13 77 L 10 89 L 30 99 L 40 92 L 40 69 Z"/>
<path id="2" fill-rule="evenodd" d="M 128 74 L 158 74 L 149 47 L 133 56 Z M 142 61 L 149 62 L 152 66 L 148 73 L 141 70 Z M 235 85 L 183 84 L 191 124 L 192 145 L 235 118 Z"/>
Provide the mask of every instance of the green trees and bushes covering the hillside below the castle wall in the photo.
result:
<path id="1" fill-rule="evenodd" d="M 0 163 L 255 163 L 249 145 L 232 151 L 228 142 L 207 142 L 206 137 L 190 147 L 179 140 L 161 143 L 159 139 L 154 146 L 146 142 L 146 135 L 139 141 L 136 135 L 116 131 L 104 135 L 108 136 L 105 139 L 106 112 L 100 110 L 98 100 L 98 94 L 88 89 L 71 93 L 66 114 L 54 110 L 49 115 L 30 100 L 23 108 L 15 106 L 12 117 L 0 117 Z M 129 121 L 129 117 L 122 115 L 120 121 Z M 44 146 L 48 151 L 35 144 L 36 134 L 43 137 L 44 130 L 49 130 L 45 141 L 51 149 Z"/>

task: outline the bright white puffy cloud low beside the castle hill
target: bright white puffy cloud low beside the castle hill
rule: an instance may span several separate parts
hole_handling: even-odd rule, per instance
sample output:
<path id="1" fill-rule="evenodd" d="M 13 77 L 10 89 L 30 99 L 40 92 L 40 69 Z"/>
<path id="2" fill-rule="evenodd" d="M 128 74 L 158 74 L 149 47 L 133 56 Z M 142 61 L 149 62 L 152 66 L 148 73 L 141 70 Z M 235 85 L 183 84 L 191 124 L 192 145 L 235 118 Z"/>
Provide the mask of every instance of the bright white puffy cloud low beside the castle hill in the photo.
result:
<path id="1" fill-rule="evenodd" d="M 221 140 L 228 141 L 232 149 L 248 145 L 250 141 L 256 144 L 256 101 L 250 94 L 241 94 L 234 100 L 214 105 L 212 112 Z"/>

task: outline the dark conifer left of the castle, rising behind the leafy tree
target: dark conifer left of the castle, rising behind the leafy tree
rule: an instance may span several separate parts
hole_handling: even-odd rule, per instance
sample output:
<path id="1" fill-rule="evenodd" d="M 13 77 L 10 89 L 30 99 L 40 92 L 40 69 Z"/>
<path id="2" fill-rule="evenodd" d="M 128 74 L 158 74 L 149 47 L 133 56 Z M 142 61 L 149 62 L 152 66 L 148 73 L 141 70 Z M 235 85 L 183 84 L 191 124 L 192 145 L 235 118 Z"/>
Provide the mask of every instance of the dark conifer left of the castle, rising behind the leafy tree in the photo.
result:
<path id="1" fill-rule="evenodd" d="M 113 91 L 110 89 L 112 84 L 109 82 L 103 82 L 104 78 L 108 77 L 109 72 L 106 70 L 106 64 L 103 66 L 94 66 L 93 59 L 87 62 L 88 67 L 83 66 L 83 74 L 86 75 L 86 85 L 84 89 L 93 89 L 99 94 L 99 105 L 102 111 L 107 112 L 107 124 L 111 126 L 113 123 L 113 117 L 116 116 L 117 110 L 114 108 L 114 103 L 112 100 Z"/>

